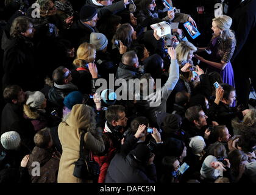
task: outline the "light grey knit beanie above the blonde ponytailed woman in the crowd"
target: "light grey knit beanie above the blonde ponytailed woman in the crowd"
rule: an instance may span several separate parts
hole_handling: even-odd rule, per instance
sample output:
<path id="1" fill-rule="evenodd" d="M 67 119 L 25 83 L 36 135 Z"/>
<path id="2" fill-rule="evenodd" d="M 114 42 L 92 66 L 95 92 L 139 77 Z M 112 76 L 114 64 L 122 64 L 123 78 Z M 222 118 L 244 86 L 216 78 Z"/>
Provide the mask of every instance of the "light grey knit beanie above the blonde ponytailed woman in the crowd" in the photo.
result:
<path id="1" fill-rule="evenodd" d="M 90 35 L 90 43 L 96 47 L 96 51 L 102 51 L 107 47 L 107 37 L 98 32 L 92 32 Z"/>

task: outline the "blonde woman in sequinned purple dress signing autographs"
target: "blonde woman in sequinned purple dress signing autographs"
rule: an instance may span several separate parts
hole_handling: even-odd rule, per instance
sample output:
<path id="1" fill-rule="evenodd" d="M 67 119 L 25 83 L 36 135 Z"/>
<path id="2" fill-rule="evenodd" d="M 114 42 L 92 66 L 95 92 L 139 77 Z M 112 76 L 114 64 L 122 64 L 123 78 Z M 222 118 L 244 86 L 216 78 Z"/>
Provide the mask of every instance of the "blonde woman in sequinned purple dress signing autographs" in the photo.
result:
<path id="1" fill-rule="evenodd" d="M 232 18 L 222 15 L 213 18 L 212 30 L 213 37 L 208 48 L 198 48 L 197 51 L 207 51 L 210 59 L 206 60 L 199 55 L 195 55 L 196 59 L 207 63 L 207 73 L 216 71 L 221 74 L 224 83 L 228 83 L 235 87 L 233 68 L 230 63 L 236 46 L 235 34 L 230 30 Z"/>

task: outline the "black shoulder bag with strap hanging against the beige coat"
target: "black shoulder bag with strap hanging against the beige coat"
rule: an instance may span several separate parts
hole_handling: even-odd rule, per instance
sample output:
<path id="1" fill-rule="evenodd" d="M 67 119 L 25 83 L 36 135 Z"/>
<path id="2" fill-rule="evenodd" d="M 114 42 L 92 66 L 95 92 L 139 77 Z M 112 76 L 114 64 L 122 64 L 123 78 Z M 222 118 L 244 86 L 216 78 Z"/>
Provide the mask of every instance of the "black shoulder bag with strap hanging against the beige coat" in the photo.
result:
<path id="1" fill-rule="evenodd" d="M 73 176 L 84 180 L 97 181 L 99 177 L 99 164 L 94 161 L 91 151 L 84 158 L 84 136 L 85 132 L 83 131 L 80 137 L 79 159 L 73 163 L 75 165 Z"/>

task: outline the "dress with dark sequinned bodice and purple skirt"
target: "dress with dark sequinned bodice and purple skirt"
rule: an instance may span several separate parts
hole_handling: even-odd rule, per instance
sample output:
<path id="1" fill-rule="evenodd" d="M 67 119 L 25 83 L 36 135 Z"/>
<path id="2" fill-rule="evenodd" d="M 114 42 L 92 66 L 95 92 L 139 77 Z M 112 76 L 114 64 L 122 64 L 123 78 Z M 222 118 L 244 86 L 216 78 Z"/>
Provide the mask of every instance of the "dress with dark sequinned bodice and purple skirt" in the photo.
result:
<path id="1" fill-rule="evenodd" d="M 210 56 L 210 61 L 220 63 L 221 60 L 227 62 L 227 65 L 224 69 L 218 69 L 213 66 L 208 65 L 208 73 L 213 71 L 221 74 L 223 83 L 228 83 L 229 85 L 235 87 L 235 80 L 233 74 L 233 68 L 230 63 L 230 59 L 233 55 L 233 51 L 235 49 L 235 43 L 232 41 L 227 41 L 227 44 L 224 44 L 224 48 L 221 48 L 222 39 L 220 37 L 215 37 L 210 42 L 210 50 L 212 51 Z M 235 107 L 235 101 L 233 103 L 233 107 Z"/>

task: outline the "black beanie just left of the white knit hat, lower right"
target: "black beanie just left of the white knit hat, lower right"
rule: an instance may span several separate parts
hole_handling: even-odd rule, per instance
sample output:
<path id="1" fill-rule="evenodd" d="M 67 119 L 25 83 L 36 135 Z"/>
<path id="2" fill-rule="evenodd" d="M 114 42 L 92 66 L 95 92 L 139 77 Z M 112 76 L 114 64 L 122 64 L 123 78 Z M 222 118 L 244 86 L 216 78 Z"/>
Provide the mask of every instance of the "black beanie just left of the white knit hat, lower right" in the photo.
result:
<path id="1" fill-rule="evenodd" d="M 184 150 L 183 141 L 177 140 L 176 138 L 167 138 L 164 141 L 165 155 L 179 158 Z"/>

